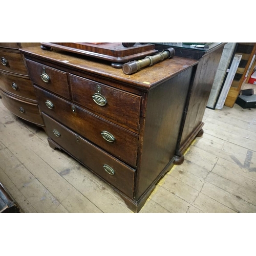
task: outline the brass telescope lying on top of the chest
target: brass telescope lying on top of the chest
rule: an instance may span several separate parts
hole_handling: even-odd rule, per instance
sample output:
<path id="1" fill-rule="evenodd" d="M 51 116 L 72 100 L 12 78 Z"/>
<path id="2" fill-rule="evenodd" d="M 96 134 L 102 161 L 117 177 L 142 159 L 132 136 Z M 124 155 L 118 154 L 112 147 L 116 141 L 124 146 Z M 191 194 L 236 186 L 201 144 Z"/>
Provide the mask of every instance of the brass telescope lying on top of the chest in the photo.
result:
<path id="1" fill-rule="evenodd" d="M 156 55 L 146 56 L 144 59 L 141 60 L 127 62 L 122 67 L 123 73 L 126 75 L 131 75 L 146 66 L 152 66 L 156 62 L 171 58 L 174 56 L 174 54 L 175 50 L 173 48 L 168 48 L 165 49 L 163 52 L 157 53 Z"/>

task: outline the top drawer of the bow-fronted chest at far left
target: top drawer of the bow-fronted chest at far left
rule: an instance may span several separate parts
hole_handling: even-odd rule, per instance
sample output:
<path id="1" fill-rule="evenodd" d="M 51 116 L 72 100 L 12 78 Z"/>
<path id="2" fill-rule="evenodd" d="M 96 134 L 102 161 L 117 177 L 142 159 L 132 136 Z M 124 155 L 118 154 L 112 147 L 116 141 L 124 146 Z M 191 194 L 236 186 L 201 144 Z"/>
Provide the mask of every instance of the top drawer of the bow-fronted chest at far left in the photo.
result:
<path id="1" fill-rule="evenodd" d="M 16 74 L 28 75 L 21 53 L 0 50 L 0 69 Z"/>

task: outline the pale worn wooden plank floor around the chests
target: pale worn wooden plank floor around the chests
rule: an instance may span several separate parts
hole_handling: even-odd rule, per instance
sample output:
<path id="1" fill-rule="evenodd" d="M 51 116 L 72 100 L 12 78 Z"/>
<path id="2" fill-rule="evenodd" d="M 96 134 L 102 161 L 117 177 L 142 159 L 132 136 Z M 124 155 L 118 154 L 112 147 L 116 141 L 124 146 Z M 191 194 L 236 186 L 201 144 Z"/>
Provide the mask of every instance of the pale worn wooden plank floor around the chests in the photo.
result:
<path id="1" fill-rule="evenodd" d="M 204 135 L 158 183 L 146 212 L 256 212 L 256 109 L 206 109 Z M 132 212 L 0 100 L 0 181 L 23 212 Z"/>

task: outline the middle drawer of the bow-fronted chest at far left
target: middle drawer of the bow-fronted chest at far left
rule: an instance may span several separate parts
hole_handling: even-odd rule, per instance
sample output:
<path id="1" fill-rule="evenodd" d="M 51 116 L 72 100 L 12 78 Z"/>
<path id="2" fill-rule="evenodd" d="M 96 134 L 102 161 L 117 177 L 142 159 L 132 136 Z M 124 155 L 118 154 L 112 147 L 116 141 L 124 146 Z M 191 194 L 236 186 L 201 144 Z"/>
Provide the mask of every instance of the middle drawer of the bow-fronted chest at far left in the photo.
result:
<path id="1" fill-rule="evenodd" d="M 36 101 L 34 88 L 30 79 L 0 72 L 0 88 L 11 94 L 23 97 L 25 100 Z"/>

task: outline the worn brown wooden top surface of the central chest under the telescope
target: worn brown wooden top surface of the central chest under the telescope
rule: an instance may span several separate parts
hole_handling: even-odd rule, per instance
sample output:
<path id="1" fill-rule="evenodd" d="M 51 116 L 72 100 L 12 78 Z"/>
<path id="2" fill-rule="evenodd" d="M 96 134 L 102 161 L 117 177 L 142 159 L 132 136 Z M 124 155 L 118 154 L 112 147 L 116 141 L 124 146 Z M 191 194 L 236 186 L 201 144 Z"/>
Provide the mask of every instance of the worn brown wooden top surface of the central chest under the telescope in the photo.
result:
<path id="1" fill-rule="evenodd" d="M 60 68 L 62 66 L 81 72 L 100 75 L 106 79 L 116 79 L 123 83 L 132 84 L 141 90 L 150 90 L 160 82 L 172 78 L 198 63 L 198 60 L 174 56 L 171 59 L 158 62 L 152 67 L 144 68 L 135 74 L 126 75 L 122 69 L 111 67 L 110 62 L 83 57 L 77 54 L 56 50 L 42 50 L 40 47 L 24 48 L 20 49 L 20 51 L 28 58 L 32 56 L 32 58 L 57 63 Z"/>

